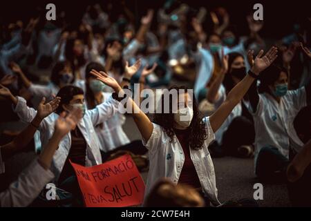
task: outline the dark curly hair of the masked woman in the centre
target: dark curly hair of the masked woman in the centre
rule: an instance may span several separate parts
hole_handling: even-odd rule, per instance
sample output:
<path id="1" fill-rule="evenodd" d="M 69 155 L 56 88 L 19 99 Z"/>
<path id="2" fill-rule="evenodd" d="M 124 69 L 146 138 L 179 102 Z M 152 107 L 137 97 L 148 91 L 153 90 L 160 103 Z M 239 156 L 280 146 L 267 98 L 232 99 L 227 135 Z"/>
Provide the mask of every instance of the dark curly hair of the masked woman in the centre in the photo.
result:
<path id="1" fill-rule="evenodd" d="M 179 94 L 179 90 L 184 90 L 185 93 L 187 93 L 187 88 L 185 86 L 171 86 L 168 91 L 164 93 L 169 93 L 171 90 L 177 90 Z M 170 142 L 173 142 L 173 137 L 175 135 L 175 132 L 173 130 L 173 125 L 174 125 L 174 117 L 173 117 L 173 111 L 172 111 L 172 104 L 173 104 L 173 97 L 169 95 L 169 113 L 164 113 L 164 94 L 161 96 L 160 102 L 162 105 L 160 106 L 162 110 L 160 113 L 155 113 L 153 115 L 153 122 L 155 124 L 158 124 L 164 128 L 165 133 L 169 135 L 171 138 Z M 196 99 L 194 98 L 193 100 L 193 109 L 194 109 L 194 117 L 191 121 L 191 124 L 189 128 L 189 146 L 190 148 L 194 150 L 199 150 L 202 148 L 206 137 L 206 129 L 205 129 L 205 124 L 202 122 L 202 115 L 198 111 L 198 104 L 196 103 Z M 158 112 L 158 111 L 157 111 Z"/>

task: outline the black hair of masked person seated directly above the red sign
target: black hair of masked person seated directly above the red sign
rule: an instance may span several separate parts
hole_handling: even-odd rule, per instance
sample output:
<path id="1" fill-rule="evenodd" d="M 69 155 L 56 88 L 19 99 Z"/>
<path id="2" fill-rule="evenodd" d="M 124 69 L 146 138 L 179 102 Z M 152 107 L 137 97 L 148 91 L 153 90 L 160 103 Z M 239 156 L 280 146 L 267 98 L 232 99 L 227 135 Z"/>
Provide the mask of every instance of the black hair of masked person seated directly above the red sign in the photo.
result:
<path id="1" fill-rule="evenodd" d="M 69 104 L 70 100 L 73 99 L 75 95 L 84 95 L 82 88 L 72 85 L 62 87 L 56 95 L 56 97 L 60 97 L 61 100 L 55 112 L 58 114 L 62 113 L 62 111 L 64 111 L 63 104 Z"/>

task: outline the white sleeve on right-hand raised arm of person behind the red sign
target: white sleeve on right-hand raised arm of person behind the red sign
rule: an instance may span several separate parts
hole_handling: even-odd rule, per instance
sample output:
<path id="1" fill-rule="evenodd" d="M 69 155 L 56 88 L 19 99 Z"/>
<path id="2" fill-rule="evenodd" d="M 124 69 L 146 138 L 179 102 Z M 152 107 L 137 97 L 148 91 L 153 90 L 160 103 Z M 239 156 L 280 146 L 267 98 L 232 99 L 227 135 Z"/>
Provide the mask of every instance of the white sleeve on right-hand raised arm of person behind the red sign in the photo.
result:
<path id="1" fill-rule="evenodd" d="M 94 126 L 105 122 L 107 119 L 113 117 L 118 112 L 118 106 L 120 102 L 117 102 L 111 96 L 106 102 L 97 105 L 92 110 L 86 111 L 86 113 L 91 117 Z"/>

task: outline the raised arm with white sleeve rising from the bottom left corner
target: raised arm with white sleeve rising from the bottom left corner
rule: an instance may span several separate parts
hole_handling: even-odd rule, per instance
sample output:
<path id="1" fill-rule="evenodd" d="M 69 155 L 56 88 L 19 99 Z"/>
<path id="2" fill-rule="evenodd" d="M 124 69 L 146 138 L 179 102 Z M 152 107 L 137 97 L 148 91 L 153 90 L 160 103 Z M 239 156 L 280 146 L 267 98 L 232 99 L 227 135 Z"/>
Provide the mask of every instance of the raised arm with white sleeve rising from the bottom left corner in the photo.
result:
<path id="1" fill-rule="evenodd" d="M 41 192 L 54 175 L 49 170 L 53 155 L 62 137 L 75 128 L 82 117 L 75 110 L 65 117 L 62 113 L 55 123 L 55 131 L 38 159 L 25 169 L 8 189 L 0 193 L 0 206 L 28 206 Z"/>

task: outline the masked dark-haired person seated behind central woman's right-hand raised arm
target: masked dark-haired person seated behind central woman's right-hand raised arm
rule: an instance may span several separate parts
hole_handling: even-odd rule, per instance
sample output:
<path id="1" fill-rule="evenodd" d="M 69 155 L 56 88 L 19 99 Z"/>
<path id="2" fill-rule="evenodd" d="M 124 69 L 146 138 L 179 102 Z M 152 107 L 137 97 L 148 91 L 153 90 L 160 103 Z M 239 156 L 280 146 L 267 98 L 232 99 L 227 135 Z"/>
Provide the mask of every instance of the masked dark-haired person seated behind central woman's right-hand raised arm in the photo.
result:
<path id="1" fill-rule="evenodd" d="M 223 66 L 220 73 L 216 74 L 216 77 L 211 77 L 207 84 L 207 101 L 214 104 L 215 110 L 223 104 L 227 92 L 247 75 L 245 61 L 241 54 L 232 52 L 224 56 L 222 50 L 222 57 L 227 59 L 223 63 L 228 66 Z M 253 155 L 252 144 L 255 131 L 252 116 L 247 109 L 248 105 L 249 102 L 245 96 L 215 133 L 216 141 L 209 146 L 212 157 L 223 155 L 251 157 Z"/>

